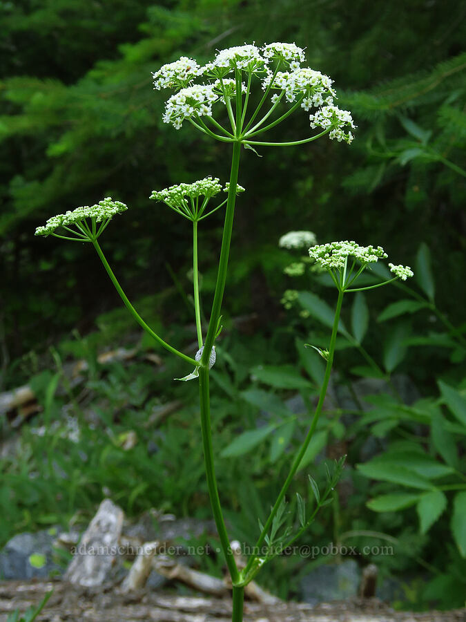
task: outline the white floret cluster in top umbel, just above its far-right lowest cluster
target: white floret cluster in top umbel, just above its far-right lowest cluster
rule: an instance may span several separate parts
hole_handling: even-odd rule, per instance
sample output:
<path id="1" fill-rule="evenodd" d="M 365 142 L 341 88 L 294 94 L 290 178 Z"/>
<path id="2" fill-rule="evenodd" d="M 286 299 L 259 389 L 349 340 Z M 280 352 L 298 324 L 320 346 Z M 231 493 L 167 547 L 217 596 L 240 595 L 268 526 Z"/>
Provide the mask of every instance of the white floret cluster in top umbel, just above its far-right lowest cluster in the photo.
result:
<path id="1" fill-rule="evenodd" d="M 295 102 L 299 95 L 304 95 L 301 107 L 308 111 L 311 106 L 318 107 L 324 103 L 333 103 L 336 93 L 328 75 L 315 71 L 309 67 L 298 68 L 295 71 L 279 71 L 271 83 L 273 74 L 269 73 L 262 81 L 265 90 L 269 84 L 272 89 L 284 91 L 289 102 Z M 273 95 L 272 102 L 278 98 Z"/>

